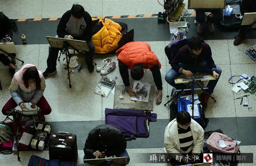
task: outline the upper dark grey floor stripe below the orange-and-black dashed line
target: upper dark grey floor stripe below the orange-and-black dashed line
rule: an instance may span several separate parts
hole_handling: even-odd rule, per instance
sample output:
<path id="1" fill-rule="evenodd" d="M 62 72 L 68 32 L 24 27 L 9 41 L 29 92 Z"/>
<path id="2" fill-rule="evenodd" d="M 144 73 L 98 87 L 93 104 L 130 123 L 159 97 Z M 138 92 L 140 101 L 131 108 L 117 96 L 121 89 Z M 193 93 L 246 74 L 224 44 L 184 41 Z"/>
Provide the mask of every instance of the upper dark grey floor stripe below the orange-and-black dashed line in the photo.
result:
<path id="1" fill-rule="evenodd" d="M 128 30 L 134 29 L 134 41 L 168 41 L 170 40 L 169 23 L 158 23 L 157 18 L 121 18 L 112 19 L 113 21 L 124 22 L 128 25 Z M 123 19 L 122 19 L 123 18 Z M 17 27 L 19 34 L 13 34 L 13 41 L 16 45 L 22 45 L 21 35 L 25 34 L 27 44 L 48 44 L 45 36 L 56 36 L 56 30 L 59 21 L 47 21 L 49 18 L 42 18 L 42 21 L 18 21 Z M 188 17 L 190 27 L 187 37 L 199 36 L 204 40 L 234 39 L 238 34 L 237 31 L 223 32 L 215 25 L 215 33 L 205 32 L 201 35 L 197 34 L 197 24 L 194 24 L 195 17 Z M 249 31 L 247 34 L 249 39 L 256 39 L 255 31 Z"/>

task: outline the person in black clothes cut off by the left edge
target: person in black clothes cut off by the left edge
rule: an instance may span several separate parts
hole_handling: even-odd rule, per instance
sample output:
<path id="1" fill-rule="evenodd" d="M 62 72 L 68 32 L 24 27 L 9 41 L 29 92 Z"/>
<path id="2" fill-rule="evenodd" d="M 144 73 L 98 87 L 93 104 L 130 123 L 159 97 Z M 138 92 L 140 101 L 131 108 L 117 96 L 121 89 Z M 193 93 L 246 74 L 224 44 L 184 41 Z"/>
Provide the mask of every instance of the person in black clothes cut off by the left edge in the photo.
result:
<path id="1" fill-rule="evenodd" d="M 0 41 L 5 38 L 5 41 L 12 42 L 12 25 L 10 19 L 5 16 L 2 12 L 0 12 Z M 13 57 L 16 56 L 15 53 L 11 54 Z M 10 59 L 7 58 L 4 54 L 0 54 L 0 61 L 5 65 L 9 66 L 9 74 L 15 74 L 15 58 Z"/>

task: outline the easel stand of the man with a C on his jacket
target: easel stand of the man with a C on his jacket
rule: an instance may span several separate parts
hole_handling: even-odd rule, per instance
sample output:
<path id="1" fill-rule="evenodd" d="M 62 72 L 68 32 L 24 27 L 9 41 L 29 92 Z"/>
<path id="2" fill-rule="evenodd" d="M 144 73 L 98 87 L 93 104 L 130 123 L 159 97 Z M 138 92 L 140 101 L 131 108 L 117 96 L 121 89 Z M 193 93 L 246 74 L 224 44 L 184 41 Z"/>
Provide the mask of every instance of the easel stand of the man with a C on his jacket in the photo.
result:
<path id="1" fill-rule="evenodd" d="M 70 81 L 70 72 L 69 72 L 69 61 L 71 58 L 71 55 L 69 53 L 68 48 L 72 48 L 72 50 L 76 50 L 74 47 L 72 47 L 67 41 L 63 42 L 63 46 L 62 46 L 62 50 L 60 52 L 60 55 L 58 57 L 58 61 L 60 61 L 60 57 L 61 54 L 65 54 L 66 55 L 66 61 L 67 61 L 67 72 L 68 72 L 68 80 L 69 80 L 69 88 L 71 88 L 71 81 Z M 77 52 L 79 52 L 78 50 L 76 50 Z M 97 65 L 95 62 L 93 62 L 91 59 L 85 57 L 86 59 L 88 59 L 89 61 L 91 61 L 94 65 Z"/>

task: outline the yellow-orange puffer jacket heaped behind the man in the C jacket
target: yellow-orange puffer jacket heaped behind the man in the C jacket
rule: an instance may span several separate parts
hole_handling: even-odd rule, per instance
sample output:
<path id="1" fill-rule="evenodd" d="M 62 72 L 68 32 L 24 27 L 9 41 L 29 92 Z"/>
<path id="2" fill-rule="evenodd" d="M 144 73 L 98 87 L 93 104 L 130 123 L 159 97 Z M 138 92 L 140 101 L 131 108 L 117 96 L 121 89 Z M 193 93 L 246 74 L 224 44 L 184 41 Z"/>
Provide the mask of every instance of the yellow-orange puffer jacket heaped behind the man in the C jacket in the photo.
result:
<path id="1" fill-rule="evenodd" d="M 92 18 L 92 21 L 96 19 L 97 18 Z M 104 21 L 99 19 L 99 22 L 100 21 L 103 27 L 92 36 L 92 42 L 95 46 L 95 53 L 105 54 L 118 47 L 118 42 L 122 38 L 120 32 L 122 28 L 118 23 L 107 18 L 105 18 Z"/>

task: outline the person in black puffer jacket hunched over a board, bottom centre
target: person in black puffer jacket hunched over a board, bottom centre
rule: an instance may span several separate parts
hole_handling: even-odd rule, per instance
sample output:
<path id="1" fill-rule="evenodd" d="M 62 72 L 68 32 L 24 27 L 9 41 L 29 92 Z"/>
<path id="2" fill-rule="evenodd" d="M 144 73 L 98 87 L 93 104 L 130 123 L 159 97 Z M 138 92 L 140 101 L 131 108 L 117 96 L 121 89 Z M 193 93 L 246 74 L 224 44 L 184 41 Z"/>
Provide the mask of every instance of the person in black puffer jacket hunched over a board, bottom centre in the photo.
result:
<path id="1" fill-rule="evenodd" d="M 92 129 L 85 142 L 84 154 L 84 159 L 113 155 L 129 157 L 126 151 L 126 139 L 122 131 L 113 125 L 99 125 Z"/>

